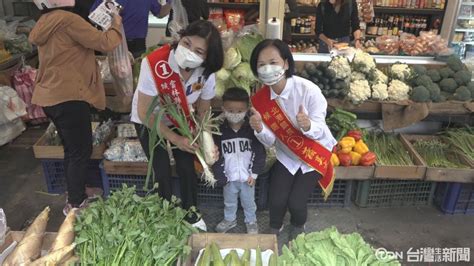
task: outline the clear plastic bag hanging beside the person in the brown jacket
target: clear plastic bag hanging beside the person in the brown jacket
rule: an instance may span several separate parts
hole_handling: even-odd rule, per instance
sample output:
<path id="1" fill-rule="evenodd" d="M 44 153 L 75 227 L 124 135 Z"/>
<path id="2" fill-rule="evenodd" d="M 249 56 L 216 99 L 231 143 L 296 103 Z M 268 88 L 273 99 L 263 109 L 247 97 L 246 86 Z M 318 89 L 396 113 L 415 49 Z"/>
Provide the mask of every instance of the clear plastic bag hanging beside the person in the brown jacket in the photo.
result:
<path id="1" fill-rule="evenodd" d="M 122 36 L 125 36 L 121 26 Z M 114 77 L 114 86 L 118 93 L 133 95 L 133 73 L 128 52 L 127 40 L 122 38 L 122 43 L 107 55 L 109 59 L 110 73 Z"/>

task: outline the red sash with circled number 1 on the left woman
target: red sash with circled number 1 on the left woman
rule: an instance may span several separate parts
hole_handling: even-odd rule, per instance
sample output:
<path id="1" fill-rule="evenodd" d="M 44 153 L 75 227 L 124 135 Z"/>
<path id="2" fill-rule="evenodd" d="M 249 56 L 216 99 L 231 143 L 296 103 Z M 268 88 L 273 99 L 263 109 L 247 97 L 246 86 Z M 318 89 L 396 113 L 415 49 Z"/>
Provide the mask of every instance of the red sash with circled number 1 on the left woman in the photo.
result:
<path id="1" fill-rule="evenodd" d="M 180 105 L 190 127 L 194 128 L 194 122 L 191 120 L 188 99 L 184 92 L 183 83 L 181 82 L 179 74 L 174 72 L 168 63 L 170 52 L 171 46 L 165 45 L 147 56 L 153 80 L 161 97 L 168 95 L 173 102 Z M 175 127 L 179 127 L 179 124 L 172 117 L 167 117 Z"/>

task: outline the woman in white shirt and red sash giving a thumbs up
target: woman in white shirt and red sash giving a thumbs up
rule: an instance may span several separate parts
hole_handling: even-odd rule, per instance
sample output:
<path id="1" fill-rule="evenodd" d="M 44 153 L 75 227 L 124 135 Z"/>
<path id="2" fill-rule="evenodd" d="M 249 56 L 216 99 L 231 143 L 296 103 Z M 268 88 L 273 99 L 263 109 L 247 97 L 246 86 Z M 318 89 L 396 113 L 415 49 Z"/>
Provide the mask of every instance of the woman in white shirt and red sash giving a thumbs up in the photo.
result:
<path id="1" fill-rule="evenodd" d="M 284 42 L 259 43 L 250 65 L 265 84 L 252 97 L 250 125 L 257 139 L 277 150 L 270 173 L 270 231 L 282 231 L 289 210 L 291 240 L 304 232 L 315 185 L 319 182 L 330 193 L 334 175 L 329 159 L 336 140 L 325 121 L 326 99 L 314 83 L 293 75 L 295 63 Z"/>

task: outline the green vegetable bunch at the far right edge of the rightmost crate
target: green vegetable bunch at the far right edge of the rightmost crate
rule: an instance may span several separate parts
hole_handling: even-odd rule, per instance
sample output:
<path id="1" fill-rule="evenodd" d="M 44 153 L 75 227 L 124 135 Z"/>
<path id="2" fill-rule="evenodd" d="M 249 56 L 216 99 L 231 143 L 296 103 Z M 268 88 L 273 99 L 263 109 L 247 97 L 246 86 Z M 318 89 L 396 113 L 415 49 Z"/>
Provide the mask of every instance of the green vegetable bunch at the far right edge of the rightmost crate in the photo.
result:
<path id="1" fill-rule="evenodd" d="M 474 134 L 472 132 L 466 129 L 450 129 L 444 134 L 443 140 L 454 152 L 474 161 Z"/>

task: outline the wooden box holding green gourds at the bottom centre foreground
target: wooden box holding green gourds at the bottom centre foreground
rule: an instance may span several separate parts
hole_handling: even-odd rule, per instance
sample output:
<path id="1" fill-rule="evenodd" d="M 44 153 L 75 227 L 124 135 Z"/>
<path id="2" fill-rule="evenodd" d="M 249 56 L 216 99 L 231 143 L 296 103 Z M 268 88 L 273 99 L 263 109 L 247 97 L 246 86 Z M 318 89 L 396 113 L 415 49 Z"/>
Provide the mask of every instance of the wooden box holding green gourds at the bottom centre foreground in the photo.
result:
<path id="1" fill-rule="evenodd" d="M 249 234 L 216 234 L 203 233 L 193 234 L 189 237 L 188 245 L 191 246 L 191 254 L 184 262 L 178 262 L 178 265 L 194 265 L 199 251 L 207 244 L 216 243 L 219 248 L 242 248 L 256 249 L 260 247 L 262 251 L 271 249 L 278 255 L 278 241 L 275 235 L 249 235 Z"/>

